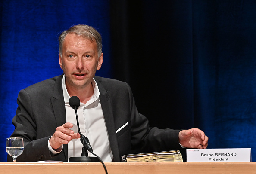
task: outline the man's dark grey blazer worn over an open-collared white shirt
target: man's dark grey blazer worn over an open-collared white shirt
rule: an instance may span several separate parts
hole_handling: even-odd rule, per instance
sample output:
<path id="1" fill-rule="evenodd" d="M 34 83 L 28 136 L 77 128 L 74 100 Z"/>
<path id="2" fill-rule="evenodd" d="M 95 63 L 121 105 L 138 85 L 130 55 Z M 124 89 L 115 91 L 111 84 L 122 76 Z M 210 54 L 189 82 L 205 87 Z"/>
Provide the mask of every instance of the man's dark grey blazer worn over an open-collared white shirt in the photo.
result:
<path id="1" fill-rule="evenodd" d="M 68 161 L 67 144 L 54 156 L 48 149 L 48 139 L 58 126 L 66 123 L 62 92 L 62 76 L 44 80 L 19 92 L 15 130 L 11 137 L 24 139 L 24 152 L 17 161 Z M 114 79 L 94 77 L 100 90 L 100 103 L 109 134 L 114 161 L 137 152 L 180 149 L 180 130 L 150 128 L 145 116 L 138 113 L 129 85 Z M 75 116 L 75 112 L 74 112 Z M 121 131 L 121 128 L 128 122 Z M 137 151 L 140 150 L 140 151 Z M 12 158 L 8 156 L 8 161 Z"/>

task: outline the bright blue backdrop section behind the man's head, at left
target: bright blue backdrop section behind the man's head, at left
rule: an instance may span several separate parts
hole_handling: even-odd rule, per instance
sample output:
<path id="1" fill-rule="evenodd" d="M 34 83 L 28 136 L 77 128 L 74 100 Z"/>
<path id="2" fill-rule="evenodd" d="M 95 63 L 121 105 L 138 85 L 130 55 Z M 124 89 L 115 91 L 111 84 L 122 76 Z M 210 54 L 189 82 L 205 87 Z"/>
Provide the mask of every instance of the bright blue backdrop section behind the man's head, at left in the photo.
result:
<path id="1" fill-rule="evenodd" d="M 62 74 L 59 32 L 75 24 L 95 27 L 103 37 L 104 65 L 98 76 L 111 76 L 108 0 L 2 0 L 0 59 L 0 161 L 14 130 L 21 89 Z"/>

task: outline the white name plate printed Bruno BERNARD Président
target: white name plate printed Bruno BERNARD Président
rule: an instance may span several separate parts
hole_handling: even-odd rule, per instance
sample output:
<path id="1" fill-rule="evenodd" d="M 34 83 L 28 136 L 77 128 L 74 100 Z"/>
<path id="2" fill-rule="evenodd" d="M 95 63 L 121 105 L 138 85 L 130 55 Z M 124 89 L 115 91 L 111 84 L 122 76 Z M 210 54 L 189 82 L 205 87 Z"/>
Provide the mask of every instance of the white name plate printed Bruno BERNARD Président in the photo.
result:
<path id="1" fill-rule="evenodd" d="M 251 162 L 251 148 L 187 149 L 187 162 Z"/>

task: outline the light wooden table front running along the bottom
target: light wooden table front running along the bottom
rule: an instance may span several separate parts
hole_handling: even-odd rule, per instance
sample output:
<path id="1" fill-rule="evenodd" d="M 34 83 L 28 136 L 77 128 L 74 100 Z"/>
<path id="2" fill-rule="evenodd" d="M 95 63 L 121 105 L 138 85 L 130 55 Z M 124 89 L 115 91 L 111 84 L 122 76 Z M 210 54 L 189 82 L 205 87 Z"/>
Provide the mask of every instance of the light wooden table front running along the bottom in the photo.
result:
<path id="1" fill-rule="evenodd" d="M 256 174 L 256 162 L 105 162 L 109 174 Z M 0 162 L 0 174 L 105 174 L 100 162 Z"/>

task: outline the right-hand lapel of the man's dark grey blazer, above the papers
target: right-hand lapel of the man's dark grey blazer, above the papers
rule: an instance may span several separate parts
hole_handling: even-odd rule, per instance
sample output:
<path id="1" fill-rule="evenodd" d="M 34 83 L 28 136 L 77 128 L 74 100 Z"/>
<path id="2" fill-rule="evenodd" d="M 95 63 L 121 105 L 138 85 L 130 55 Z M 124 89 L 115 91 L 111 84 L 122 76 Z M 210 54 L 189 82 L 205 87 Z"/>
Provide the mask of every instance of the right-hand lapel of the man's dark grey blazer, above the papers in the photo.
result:
<path id="1" fill-rule="evenodd" d="M 96 81 L 100 90 L 100 103 L 103 110 L 103 116 L 106 122 L 106 128 L 109 134 L 109 143 L 114 157 L 114 161 L 120 161 L 119 149 L 116 138 L 115 120 L 112 113 L 109 93 L 104 89 L 100 82 Z"/>

